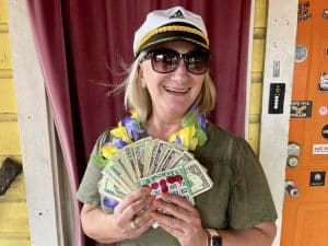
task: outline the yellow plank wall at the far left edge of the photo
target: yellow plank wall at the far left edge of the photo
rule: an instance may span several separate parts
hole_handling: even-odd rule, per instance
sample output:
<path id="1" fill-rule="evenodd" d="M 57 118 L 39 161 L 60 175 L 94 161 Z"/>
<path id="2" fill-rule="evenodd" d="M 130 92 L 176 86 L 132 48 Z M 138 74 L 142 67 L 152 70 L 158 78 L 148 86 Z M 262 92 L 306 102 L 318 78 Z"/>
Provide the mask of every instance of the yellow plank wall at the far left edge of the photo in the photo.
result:
<path id="1" fill-rule="evenodd" d="M 0 165 L 22 160 L 8 28 L 7 0 L 0 0 Z M 31 245 L 22 174 L 0 196 L 0 245 Z"/>

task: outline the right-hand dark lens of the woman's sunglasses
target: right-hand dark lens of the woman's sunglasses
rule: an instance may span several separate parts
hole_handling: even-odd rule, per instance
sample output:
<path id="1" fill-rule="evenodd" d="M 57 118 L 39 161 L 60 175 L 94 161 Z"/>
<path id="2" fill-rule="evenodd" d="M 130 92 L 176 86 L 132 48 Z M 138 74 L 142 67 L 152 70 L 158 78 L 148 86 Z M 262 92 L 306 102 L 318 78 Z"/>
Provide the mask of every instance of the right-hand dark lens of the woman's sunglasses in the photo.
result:
<path id="1" fill-rule="evenodd" d="M 210 65 L 210 54 L 202 50 L 194 50 L 185 55 L 185 63 L 189 72 L 203 74 Z"/>

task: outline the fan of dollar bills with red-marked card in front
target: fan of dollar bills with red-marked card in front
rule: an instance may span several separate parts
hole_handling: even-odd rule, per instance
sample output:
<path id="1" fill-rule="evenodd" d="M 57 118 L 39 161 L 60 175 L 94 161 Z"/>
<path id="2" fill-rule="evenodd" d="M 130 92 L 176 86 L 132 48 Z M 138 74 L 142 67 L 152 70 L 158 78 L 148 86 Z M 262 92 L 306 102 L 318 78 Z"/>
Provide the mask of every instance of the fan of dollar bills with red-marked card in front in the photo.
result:
<path id="1" fill-rule="evenodd" d="M 148 186 L 156 198 L 169 192 L 195 204 L 194 197 L 213 185 L 206 168 L 186 149 L 151 137 L 120 149 L 102 174 L 99 194 L 118 202 Z"/>

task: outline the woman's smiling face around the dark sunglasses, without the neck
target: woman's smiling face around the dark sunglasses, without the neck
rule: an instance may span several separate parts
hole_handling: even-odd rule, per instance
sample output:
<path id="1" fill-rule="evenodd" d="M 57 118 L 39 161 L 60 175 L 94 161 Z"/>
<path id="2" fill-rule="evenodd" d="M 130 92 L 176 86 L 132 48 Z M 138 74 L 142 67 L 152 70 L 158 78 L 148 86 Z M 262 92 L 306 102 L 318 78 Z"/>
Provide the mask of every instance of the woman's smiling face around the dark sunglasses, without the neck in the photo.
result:
<path id="1" fill-rule="evenodd" d="M 157 48 L 168 48 L 179 54 L 196 49 L 194 45 L 183 42 L 165 43 Z M 176 70 L 169 73 L 154 71 L 150 59 L 140 65 L 139 71 L 141 85 L 150 93 L 153 114 L 163 115 L 167 119 L 181 118 L 186 114 L 199 95 L 204 77 L 189 72 L 183 59 Z"/>

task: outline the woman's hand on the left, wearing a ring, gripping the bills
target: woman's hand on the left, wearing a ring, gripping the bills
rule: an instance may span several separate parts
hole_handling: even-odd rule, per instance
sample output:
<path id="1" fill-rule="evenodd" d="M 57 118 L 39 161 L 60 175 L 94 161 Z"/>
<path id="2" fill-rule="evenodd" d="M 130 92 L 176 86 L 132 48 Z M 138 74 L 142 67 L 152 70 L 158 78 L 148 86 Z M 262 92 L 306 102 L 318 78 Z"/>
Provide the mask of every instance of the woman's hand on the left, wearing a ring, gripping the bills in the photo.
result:
<path id="1" fill-rule="evenodd" d="M 117 235 L 121 239 L 136 238 L 154 223 L 150 212 L 156 208 L 151 203 L 150 190 L 142 187 L 132 191 L 114 209 Z"/>

